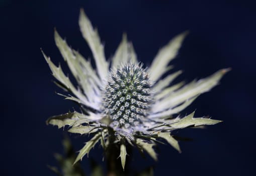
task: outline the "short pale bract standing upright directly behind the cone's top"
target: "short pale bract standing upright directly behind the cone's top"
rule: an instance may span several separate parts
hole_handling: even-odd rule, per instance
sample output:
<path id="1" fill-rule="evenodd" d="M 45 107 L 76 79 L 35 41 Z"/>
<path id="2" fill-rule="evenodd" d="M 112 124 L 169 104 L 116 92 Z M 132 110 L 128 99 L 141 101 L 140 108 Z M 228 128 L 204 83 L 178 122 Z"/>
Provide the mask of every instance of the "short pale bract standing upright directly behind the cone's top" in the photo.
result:
<path id="1" fill-rule="evenodd" d="M 132 63 L 137 63 L 136 54 L 131 43 L 128 43 L 126 34 L 123 34 L 123 39 L 119 44 L 114 57 L 112 59 L 111 68 L 117 68 L 126 62 L 131 61 Z"/>

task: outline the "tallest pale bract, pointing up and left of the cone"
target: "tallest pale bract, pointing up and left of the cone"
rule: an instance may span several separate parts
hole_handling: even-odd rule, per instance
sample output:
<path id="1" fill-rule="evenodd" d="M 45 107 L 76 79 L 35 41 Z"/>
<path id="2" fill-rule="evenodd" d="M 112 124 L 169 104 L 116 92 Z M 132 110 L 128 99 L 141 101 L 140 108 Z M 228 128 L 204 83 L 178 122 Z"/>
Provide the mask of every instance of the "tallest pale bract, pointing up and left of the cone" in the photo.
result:
<path id="1" fill-rule="evenodd" d="M 82 9 L 80 10 L 79 26 L 83 38 L 87 41 L 92 50 L 98 74 L 101 80 L 104 80 L 109 70 L 109 63 L 106 61 L 104 54 L 104 46 L 101 44 L 97 30 L 93 28 L 90 20 Z"/>

